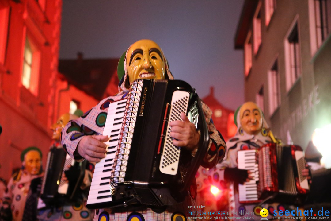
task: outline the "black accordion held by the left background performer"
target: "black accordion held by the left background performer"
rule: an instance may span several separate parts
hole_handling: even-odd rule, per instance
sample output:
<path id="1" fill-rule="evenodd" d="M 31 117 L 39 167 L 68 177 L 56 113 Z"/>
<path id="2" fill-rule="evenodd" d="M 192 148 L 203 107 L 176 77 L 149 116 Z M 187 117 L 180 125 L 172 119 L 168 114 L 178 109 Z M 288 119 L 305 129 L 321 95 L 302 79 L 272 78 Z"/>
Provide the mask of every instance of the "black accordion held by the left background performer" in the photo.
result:
<path id="1" fill-rule="evenodd" d="M 46 205 L 74 199 L 84 178 L 85 167 L 85 161 L 75 162 L 61 145 L 51 148 L 47 155 L 40 198 Z M 64 174 L 69 182 L 62 179 Z"/>

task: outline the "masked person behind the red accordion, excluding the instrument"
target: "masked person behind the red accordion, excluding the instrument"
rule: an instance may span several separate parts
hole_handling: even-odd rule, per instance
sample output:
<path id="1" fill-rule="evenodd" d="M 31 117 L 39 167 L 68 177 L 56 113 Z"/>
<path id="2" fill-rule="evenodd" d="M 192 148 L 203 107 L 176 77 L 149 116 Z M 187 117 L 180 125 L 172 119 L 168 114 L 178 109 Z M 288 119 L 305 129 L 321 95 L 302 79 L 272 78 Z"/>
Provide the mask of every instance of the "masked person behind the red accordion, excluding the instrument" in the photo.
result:
<path id="1" fill-rule="evenodd" d="M 230 138 L 226 145 L 227 150 L 224 160 L 215 168 L 209 170 L 209 176 L 215 185 L 227 184 L 229 189 L 229 212 L 231 216 L 245 215 L 260 220 L 260 210 L 266 208 L 269 211 L 268 218 L 272 219 L 273 210 L 284 210 L 285 206 L 279 203 L 270 205 L 241 204 L 238 200 L 238 184 L 243 184 L 253 178 L 253 171 L 238 169 L 237 153 L 239 150 L 258 149 L 267 143 L 280 143 L 275 139 L 261 109 L 253 102 L 246 102 L 235 112 L 236 136 Z M 308 176 L 308 169 L 304 169 L 304 176 Z M 288 208 L 286 208 L 288 209 Z M 253 215 L 254 212 L 254 215 Z M 242 214 L 242 215 L 240 215 Z"/>

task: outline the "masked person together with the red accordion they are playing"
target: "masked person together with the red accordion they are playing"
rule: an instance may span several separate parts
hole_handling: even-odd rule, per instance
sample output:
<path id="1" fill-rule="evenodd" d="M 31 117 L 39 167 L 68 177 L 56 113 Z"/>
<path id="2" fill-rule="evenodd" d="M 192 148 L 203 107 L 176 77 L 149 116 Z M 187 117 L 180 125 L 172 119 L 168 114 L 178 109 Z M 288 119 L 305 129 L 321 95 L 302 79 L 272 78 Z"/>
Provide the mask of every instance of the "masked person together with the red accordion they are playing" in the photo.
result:
<path id="1" fill-rule="evenodd" d="M 286 204 L 302 202 L 309 181 L 301 147 L 282 145 L 275 139 L 261 109 L 253 102 L 237 109 L 235 124 L 238 130 L 227 142 L 224 160 L 209 170 L 214 185 L 229 189 L 231 215 L 258 220 L 260 210 L 266 208 L 266 218 L 272 219 L 274 210 L 286 210 Z"/>

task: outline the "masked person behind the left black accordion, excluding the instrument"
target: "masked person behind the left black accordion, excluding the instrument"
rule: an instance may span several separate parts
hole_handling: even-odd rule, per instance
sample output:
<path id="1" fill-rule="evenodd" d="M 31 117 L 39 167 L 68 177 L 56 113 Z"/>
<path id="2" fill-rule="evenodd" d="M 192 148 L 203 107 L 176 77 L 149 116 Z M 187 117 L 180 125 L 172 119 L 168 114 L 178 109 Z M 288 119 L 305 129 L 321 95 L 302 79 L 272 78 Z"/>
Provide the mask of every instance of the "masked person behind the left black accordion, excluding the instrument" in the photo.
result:
<path id="1" fill-rule="evenodd" d="M 80 110 L 77 110 L 74 114 L 63 114 L 56 123 L 54 123 L 51 127 L 53 130 L 53 144 L 52 148 L 59 148 L 61 145 L 61 131 L 65 127 L 65 125 L 71 120 L 77 119 L 82 115 Z M 69 164 L 71 165 L 71 164 Z M 84 164 L 85 165 L 85 164 Z M 78 166 L 78 165 L 77 165 Z M 66 167 L 66 166 L 65 166 Z M 73 167 L 66 168 L 70 172 Z M 84 179 L 78 187 L 77 193 L 75 194 L 75 198 L 72 200 L 63 198 L 61 203 L 53 202 L 52 205 L 47 205 L 44 208 L 39 209 L 38 211 L 38 220 L 40 221 L 48 221 L 48 220 L 81 220 L 88 221 L 91 220 L 91 211 L 86 208 L 85 202 L 88 193 L 88 187 L 91 185 L 92 179 L 92 170 L 94 169 L 94 164 L 87 162 L 86 169 L 84 168 Z M 46 172 L 46 171 L 45 171 Z M 64 174 L 64 173 L 63 173 Z M 72 174 L 70 177 L 66 177 L 65 175 L 61 178 L 61 181 L 68 182 L 77 182 L 77 180 L 71 180 L 71 177 L 75 177 L 75 174 Z M 45 179 L 45 177 L 44 177 Z M 45 186 L 45 189 L 49 188 Z M 63 202 L 63 203 L 62 203 Z"/>

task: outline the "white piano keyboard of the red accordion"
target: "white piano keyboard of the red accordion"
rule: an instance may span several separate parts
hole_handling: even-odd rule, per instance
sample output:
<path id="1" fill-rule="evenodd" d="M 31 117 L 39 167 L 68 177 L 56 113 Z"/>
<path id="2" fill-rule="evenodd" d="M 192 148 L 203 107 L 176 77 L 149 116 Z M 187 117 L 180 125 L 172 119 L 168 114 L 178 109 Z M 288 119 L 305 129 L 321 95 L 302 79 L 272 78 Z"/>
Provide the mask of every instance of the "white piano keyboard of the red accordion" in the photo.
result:
<path id="1" fill-rule="evenodd" d="M 253 171 L 254 179 L 238 185 L 239 202 L 258 200 L 259 165 L 256 159 L 256 150 L 238 151 L 238 169 Z"/>

